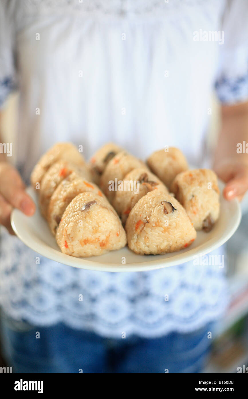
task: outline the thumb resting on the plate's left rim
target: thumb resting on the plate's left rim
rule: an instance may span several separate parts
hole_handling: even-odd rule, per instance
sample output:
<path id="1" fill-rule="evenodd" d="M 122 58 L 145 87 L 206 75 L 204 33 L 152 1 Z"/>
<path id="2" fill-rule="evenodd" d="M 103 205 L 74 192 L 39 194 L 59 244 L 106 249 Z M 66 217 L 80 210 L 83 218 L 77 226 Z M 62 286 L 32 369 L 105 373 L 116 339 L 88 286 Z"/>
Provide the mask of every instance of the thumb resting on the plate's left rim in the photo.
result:
<path id="1" fill-rule="evenodd" d="M 9 184 L 5 186 L 1 194 L 10 205 L 20 209 L 25 215 L 32 216 L 35 213 L 35 203 L 23 188 L 16 187 L 14 184 Z"/>

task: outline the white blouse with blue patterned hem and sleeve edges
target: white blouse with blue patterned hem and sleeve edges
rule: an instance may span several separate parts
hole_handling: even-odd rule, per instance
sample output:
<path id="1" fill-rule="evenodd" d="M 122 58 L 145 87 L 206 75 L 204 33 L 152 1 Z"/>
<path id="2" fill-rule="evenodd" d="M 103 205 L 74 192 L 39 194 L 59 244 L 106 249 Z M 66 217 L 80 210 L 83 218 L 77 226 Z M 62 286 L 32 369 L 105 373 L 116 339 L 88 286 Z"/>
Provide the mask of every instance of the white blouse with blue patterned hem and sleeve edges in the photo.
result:
<path id="1" fill-rule="evenodd" d="M 247 20 L 245 0 L 2 0 L 0 101 L 18 86 L 13 152 L 23 178 L 66 140 L 86 158 L 110 140 L 143 159 L 177 146 L 202 166 L 213 88 L 222 102 L 248 98 Z M 0 251 L 0 303 L 32 324 L 159 336 L 199 328 L 227 306 L 226 265 L 147 273 L 42 257 L 37 265 L 39 255 L 4 232 Z"/>

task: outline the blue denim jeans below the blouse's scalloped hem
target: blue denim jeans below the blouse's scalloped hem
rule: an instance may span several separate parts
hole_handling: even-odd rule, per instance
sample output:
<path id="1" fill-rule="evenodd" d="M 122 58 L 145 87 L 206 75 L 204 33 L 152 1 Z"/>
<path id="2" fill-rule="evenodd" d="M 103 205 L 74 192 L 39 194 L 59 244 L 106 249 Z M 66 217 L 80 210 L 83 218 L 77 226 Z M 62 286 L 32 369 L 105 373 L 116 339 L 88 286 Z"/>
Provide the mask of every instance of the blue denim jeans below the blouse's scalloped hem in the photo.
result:
<path id="1" fill-rule="evenodd" d="M 15 373 L 198 373 L 211 341 L 210 325 L 154 339 L 102 338 L 64 324 L 34 327 L 6 316 L 1 325 L 3 356 Z"/>

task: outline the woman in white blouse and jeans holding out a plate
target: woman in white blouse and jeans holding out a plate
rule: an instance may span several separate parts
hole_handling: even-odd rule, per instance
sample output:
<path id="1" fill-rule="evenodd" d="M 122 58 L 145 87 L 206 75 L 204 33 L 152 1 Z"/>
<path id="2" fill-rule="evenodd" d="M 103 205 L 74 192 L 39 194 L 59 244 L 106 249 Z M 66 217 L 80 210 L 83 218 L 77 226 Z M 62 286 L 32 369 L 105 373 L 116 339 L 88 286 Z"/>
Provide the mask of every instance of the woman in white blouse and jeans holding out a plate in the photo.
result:
<path id="1" fill-rule="evenodd" d="M 247 17 L 242 0 L 2 1 L 0 97 L 18 85 L 20 119 L 16 169 L 0 164 L 1 224 L 12 233 L 12 207 L 34 213 L 22 179 L 66 140 L 83 144 L 86 158 L 107 141 L 143 159 L 166 145 L 195 166 L 211 156 L 223 195 L 241 198 L 248 160 L 236 144 L 248 141 Z M 215 154 L 207 154 L 214 86 L 223 123 Z M 2 229 L 2 339 L 16 372 L 201 369 L 210 323 L 228 304 L 225 267 L 100 273 L 38 256 Z"/>

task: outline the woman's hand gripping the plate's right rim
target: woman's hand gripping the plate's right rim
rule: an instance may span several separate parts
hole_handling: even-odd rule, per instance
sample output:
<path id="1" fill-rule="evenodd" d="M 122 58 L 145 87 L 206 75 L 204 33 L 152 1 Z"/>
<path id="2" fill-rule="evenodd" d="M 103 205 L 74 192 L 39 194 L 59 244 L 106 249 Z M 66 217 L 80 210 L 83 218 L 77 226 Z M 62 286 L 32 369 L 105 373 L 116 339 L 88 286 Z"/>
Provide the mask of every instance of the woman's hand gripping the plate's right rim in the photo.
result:
<path id="1" fill-rule="evenodd" d="M 223 190 L 224 198 L 231 200 L 243 198 L 248 190 L 248 164 L 235 159 L 227 159 L 219 162 L 214 167 L 217 176 L 226 183 Z"/>

